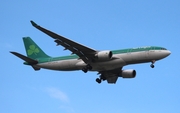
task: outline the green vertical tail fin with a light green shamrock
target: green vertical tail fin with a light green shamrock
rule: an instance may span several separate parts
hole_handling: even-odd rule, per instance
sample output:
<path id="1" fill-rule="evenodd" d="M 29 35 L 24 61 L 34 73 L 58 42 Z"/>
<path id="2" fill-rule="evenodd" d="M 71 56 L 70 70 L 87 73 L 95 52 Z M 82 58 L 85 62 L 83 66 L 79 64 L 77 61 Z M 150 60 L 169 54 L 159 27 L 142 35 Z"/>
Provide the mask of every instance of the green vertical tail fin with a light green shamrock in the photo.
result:
<path id="1" fill-rule="evenodd" d="M 44 51 L 30 37 L 23 37 L 23 41 L 26 48 L 26 54 L 29 58 L 37 59 L 50 57 L 44 53 Z"/>

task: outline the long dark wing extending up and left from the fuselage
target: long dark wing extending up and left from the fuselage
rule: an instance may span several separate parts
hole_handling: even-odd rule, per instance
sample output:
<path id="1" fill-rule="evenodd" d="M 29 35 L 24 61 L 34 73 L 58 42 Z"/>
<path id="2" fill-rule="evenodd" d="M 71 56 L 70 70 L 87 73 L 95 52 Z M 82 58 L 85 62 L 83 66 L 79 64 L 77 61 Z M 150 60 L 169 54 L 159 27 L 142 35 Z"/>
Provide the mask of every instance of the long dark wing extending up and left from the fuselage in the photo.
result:
<path id="1" fill-rule="evenodd" d="M 39 25 L 37 25 L 35 22 L 31 21 L 31 24 L 39 29 L 40 31 L 44 32 L 45 34 L 49 35 L 50 37 L 55 39 L 55 42 L 57 45 L 62 45 L 65 50 L 70 50 L 72 54 L 78 55 L 85 63 L 90 63 L 94 59 L 94 55 L 96 54 L 96 50 L 91 49 L 89 47 L 86 47 L 84 45 L 81 45 L 77 42 L 74 42 L 72 40 L 69 40 L 63 36 L 60 36 L 52 31 L 49 31 Z"/>

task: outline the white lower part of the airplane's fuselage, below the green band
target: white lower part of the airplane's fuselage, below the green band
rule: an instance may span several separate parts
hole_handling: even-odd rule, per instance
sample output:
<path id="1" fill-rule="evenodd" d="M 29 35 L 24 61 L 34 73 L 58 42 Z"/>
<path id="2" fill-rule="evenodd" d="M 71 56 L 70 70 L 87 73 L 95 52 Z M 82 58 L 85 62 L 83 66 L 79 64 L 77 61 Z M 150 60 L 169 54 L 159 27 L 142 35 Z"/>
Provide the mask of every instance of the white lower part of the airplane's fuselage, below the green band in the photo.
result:
<path id="1" fill-rule="evenodd" d="M 92 71 L 105 71 L 121 68 L 129 64 L 147 63 L 167 57 L 170 54 L 169 50 L 149 50 L 139 52 L 128 52 L 121 54 L 114 54 L 110 60 L 93 62 L 90 65 L 93 67 Z M 81 59 L 69 59 L 50 61 L 46 63 L 39 63 L 35 65 L 39 68 L 73 71 L 81 70 L 87 64 Z"/>

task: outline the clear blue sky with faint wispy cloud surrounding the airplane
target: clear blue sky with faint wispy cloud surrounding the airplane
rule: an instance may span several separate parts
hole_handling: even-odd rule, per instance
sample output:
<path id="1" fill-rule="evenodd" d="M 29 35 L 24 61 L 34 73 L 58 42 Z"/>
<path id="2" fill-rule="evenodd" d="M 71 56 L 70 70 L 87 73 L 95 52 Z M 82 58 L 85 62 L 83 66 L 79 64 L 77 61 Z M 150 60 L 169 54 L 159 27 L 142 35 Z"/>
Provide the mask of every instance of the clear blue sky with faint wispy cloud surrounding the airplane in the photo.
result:
<path id="1" fill-rule="evenodd" d="M 179 113 L 179 0 L 5 1 L 0 4 L 0 113 Z M 116 84 L 95 79 L 96 72 L 34 71 L 9 51 L 26 55 L 30 36 L 48 55 L 63 56 L 39 25 L 96 50 L 161 46 L 167 58 L 129 65 L 136 78 Z"/>

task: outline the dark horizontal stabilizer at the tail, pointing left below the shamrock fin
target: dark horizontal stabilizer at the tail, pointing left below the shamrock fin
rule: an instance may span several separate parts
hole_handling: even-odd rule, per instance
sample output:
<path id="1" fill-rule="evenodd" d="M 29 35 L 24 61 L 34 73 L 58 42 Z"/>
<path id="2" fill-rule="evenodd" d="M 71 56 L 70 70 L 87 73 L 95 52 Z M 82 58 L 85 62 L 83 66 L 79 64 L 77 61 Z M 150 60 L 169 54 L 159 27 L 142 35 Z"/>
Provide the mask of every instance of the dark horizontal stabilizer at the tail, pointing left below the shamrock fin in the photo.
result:
<path id="1" fill-rule="evenodd" d="M 38 63 L 38 61 L 28 58 L 20 53 L 17 53 L 17 52 L 10 52 L 10 53 L 12 53 L 13 55 L 19 57 L 20 59 L 26 61 L 29 65 L 34 65 L 34 64 Z"/>

